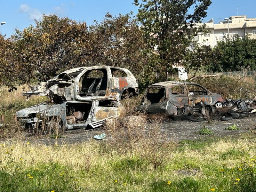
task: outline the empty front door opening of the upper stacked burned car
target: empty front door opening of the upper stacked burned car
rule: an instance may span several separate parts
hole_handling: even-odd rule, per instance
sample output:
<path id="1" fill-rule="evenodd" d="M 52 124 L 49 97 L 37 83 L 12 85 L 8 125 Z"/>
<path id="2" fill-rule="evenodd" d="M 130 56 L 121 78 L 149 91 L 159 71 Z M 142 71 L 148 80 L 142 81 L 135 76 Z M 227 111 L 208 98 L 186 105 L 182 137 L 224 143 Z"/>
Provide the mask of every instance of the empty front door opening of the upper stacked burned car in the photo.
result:
<path id="1" fill-rule="evenodd" d="M 92 69 L 86 71 L 79 80 L 80 96 L 105 96 L 107 92 L 107 69 Z"/>

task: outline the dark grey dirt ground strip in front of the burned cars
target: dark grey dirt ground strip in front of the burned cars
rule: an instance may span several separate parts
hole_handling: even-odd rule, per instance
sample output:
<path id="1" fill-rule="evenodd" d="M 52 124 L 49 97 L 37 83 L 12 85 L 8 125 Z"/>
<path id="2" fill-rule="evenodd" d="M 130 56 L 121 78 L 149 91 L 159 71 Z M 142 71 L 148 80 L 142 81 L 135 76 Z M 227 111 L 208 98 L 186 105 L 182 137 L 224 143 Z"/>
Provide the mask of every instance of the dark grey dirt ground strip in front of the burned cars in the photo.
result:
<path id="1" fill-rule="evenodd" d="M 220 121 L 212 120 L 210 123 L 205 122 L 192 122 L 192 121 L 164 121 L 162 123 L 161 131 L 167 134 L 168 139 L 174 142 L 179 142 L 182 140 L 196 140 L 205 139 L 209 137 L 221 138 L 226 136 L 239 137 L 243 133 L 250 133 L 250 130 L 255 130 L 255 120 L 256 115 L 251 115 L 250 117 L 244 119 L 233 119 L 231 121 Z M 240 130 L 225 130 L 228 126 L 236 124 Z M 203 126 L 208 127 L 213 135 L 199 135 L 197 134 Z M 255 131 L 256 132 L 256 131 Z M 100 135 L 104 133 L 103 129 L 76 129 L 65 131 L 61 135 L 61 138 L 57 139 L 57 143 L 80 143 L 83 141 L 88 141 L 95 135 Z M 108 135 L 107 135 L 108 136 Z M 28 137 L 28 140 L 34 140 L 37 143 L 43 144 L 54 144 L 56 142 L 55 138 L 49 138 L 46 136 L 41 137 Z"/>

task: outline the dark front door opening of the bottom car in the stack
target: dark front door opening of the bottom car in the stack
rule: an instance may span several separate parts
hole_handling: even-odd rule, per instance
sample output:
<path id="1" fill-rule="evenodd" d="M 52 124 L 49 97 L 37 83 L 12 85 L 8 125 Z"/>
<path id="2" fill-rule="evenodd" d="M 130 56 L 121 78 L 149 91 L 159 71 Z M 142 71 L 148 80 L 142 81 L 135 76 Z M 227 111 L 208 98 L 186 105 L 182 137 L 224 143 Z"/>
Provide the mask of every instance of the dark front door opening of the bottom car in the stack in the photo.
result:
<path id="1" fill-rule="evenodd" d="M 92 108 L 90 103 L 67 103 L 66 116 L 68 124 L 84 124 Z"/>

